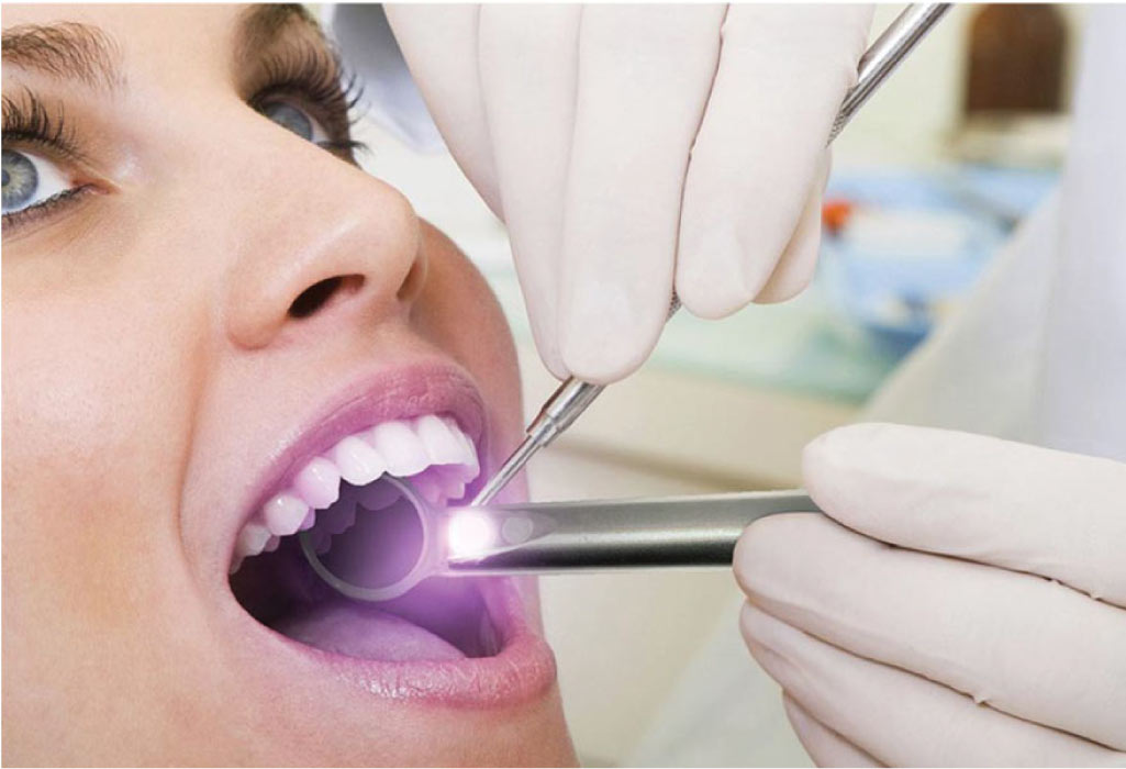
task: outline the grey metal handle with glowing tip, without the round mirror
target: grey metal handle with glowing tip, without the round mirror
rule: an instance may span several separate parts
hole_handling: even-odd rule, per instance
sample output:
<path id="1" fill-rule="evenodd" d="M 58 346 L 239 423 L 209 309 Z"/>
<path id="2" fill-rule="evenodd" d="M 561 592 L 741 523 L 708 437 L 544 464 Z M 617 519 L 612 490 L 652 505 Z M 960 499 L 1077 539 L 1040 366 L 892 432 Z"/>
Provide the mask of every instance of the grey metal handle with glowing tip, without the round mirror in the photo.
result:
<path id="1" fill-rule="evenodd" d="M 820 511 L 802 490 L 458 508 L 444 573 L 730 566 L 759 518 Z"/>

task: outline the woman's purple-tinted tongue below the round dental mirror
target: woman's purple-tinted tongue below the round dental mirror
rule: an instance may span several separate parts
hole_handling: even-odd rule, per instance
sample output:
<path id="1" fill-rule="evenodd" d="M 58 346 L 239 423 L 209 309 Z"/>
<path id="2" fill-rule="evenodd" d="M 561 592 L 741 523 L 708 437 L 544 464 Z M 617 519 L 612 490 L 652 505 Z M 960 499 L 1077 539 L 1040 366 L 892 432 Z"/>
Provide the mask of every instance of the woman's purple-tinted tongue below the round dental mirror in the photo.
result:
<path id="1" fill-rule="evenodd" d="M 325 652 L 365 660 L 461 660 L 459 649 L 430 631 L 374 606 L 354 601 L 318 603 L 289 615 L 274 629 Z"/>

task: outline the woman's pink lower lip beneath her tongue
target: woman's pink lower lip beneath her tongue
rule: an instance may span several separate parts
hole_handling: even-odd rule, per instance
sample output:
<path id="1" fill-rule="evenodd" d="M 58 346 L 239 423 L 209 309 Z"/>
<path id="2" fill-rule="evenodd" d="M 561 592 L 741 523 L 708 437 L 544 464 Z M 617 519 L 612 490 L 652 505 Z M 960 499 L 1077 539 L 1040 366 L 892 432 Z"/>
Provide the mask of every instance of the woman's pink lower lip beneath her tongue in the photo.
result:
<path id="1" fill-rule="evenodd" d="M 472 578 L 467 578 L 472 579 Z M 325 652 L 260 625 L 235 603 L 254 635 L 279 652 L 284 668 L 325 676 L 372 696 L 474 709 L 520 705 L 542 698 L 555 683 L 555 656 L 528 625 L 516 582 L 479 578 L 489 615 L 501 636 L 494 656 L 455 661 L 381 662 Z"/>

